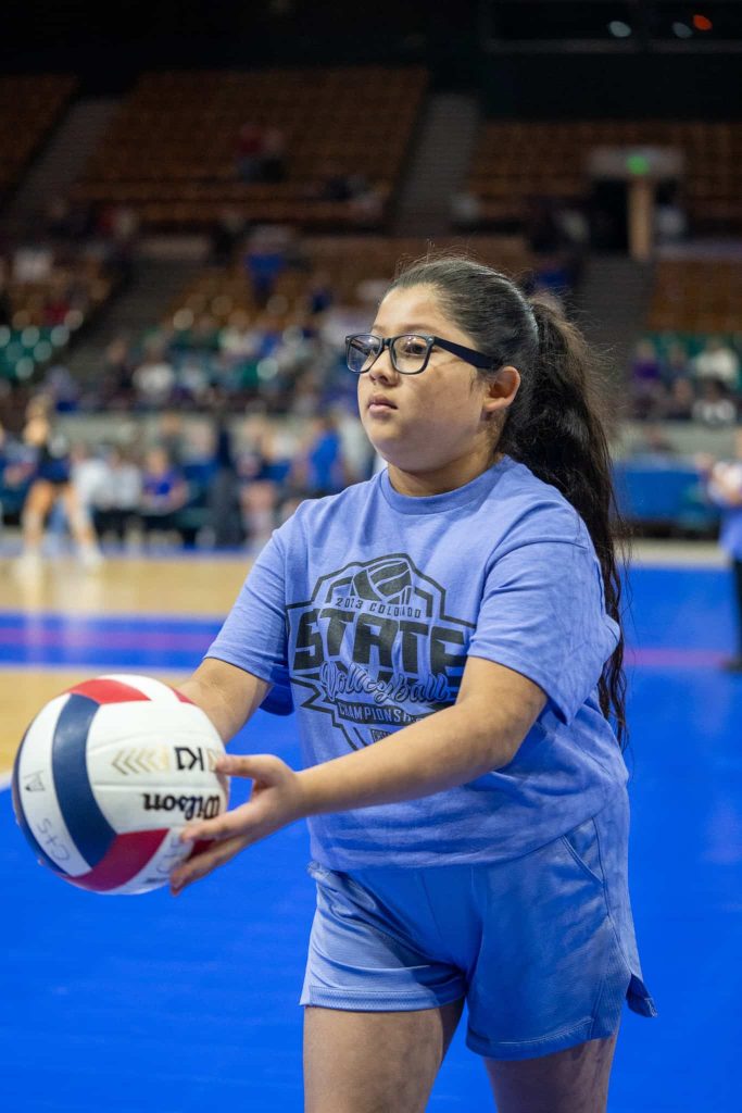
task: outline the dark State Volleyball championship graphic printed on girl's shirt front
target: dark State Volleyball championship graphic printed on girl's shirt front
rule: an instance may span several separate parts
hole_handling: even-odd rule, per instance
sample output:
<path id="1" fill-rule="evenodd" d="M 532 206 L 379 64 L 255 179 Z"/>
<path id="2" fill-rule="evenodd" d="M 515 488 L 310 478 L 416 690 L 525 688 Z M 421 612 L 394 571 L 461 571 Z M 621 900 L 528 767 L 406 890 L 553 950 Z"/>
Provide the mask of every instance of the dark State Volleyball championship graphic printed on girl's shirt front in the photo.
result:
<path id="1" fill-rule="evenodd" d="M 287 608 L 289 672 L 304 708 L 329 715 L 353 749 L 453 703 L 474 623 L 405 553 L 354 561 Z"/>

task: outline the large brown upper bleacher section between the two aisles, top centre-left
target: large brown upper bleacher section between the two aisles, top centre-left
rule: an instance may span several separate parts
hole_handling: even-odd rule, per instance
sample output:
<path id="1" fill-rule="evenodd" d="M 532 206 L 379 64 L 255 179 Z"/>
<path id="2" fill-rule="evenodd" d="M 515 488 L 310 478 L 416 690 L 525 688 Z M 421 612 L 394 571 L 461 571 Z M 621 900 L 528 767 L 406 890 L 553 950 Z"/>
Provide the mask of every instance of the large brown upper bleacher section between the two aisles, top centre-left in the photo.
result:
<path id="1" fill-rule="evenodd" d="M 209 226 L 226 206 L 247 220 L 342 228 L 364 215 L 313 189 L 327 177 L 363 175 L 383 220 L 426 80 L 419 68 L 383 67 L 145 75 L 75 197 L 131 206 L 164 229 Z M 284 180 L 240 179 L 246 124 L 281 134 Z"/>

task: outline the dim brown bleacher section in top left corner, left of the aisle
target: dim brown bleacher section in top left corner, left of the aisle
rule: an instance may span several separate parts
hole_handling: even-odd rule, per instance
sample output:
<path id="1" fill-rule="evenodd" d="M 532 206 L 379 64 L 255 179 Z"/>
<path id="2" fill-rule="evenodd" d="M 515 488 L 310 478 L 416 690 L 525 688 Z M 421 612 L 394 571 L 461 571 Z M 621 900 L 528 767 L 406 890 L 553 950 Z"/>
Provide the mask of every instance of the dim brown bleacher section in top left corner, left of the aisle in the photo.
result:
<path id="1" fill-rule="evenodd" d="M 0 77 L 0 198 L 19 181 L 77 85 L 73 77 Z"/>

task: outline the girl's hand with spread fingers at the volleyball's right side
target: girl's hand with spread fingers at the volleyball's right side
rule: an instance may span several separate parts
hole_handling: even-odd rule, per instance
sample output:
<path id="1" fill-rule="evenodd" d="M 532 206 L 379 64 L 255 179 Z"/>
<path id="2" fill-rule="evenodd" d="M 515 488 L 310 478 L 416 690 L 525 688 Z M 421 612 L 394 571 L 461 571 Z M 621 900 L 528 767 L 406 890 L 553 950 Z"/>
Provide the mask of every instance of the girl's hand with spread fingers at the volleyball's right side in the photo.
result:
<path id="1" fill-rule="evenodd" d="M 253 791 L 247 804 L 225 811 L 215 819 L 189 824 L 181 833 L 184 841 L 207 845 L 182 861 L 170 874 L 170 892 L 177 896 L 186 885 L 206 877 L 217 866 L 224 866 L 258 839 L 300 819 L 303 795 L 299 776 L 280 758 L 268 754 L 250 757 L 229 755 L 217 761 L 217 772 L 230 777 L 249 777 Z M 210 845 L 208 845 L 210 844 Z"/>

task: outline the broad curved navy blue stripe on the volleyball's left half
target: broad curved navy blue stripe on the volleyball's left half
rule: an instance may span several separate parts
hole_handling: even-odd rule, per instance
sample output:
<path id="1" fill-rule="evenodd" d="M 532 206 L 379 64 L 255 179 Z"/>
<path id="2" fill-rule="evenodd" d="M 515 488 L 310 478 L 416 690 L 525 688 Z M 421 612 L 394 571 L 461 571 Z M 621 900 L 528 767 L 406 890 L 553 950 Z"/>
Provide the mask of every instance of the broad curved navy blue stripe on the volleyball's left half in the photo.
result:
<path id="1" fill-rule="evenodd" d="M 75 846 L 91 868 L 106 856 L 116 838 L 88 779 L 88 731 L 98 707 L 87 696 L 70 696 L 57 720 L 51 749 L 59 808 Z"/>

